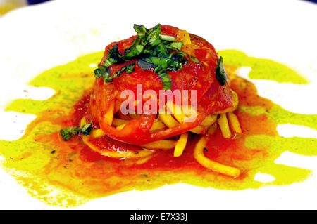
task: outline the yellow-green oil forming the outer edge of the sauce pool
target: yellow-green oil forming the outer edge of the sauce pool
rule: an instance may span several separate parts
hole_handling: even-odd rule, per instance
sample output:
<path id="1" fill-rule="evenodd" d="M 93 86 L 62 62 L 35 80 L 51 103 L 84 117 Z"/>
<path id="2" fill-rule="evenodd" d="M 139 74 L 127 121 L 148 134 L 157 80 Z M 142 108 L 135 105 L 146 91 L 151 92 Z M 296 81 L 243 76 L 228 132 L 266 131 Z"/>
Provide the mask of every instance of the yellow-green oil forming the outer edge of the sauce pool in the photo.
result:
<path id="1" fill-rule="evenodd" d="M 261 58 L 251 58 L 240 51 L 220 51 L 225 62 L 232 66 L 249 66 L 251 72 L 249 77 L 252 79 L 272 79 L 279 82 L 292 82 L 294 84 L 306 84 L 307 81 L 299 74 L 272 60 Z M 65 164 L 64 168 L 58 168 L 59 157 L 63 155 L 58 153 L 58 148 L 51 144 L 50 139 L 45 139 L 47 134 L 56 133 L 60 126 L 49 122 L 52 118 L 58 119 L 66 115 L 70 107 L 80 99 L 82 91 L 92 85 L 94 81 L 93 69 L 89 67 L 92 63 L 99 62 L 102 52 L 86 55 L 66 65 L 61 65 L 48 70 L 30 82 L 32 86 L 46 86 L 53 88 L 56 94 L 49 100 L 14 100 L 6 111 L 16 111 L 27 114 L 36 114 L 42 117 L 40 121 L 33 121 L 28 127 L 25 136 L 16 141 L 0 141 L 0 155 L 6 159 L 2 163 L 4 169 L 11 173 L 18 182 L 43 202 L 55 206 L 78 206 L 96 197 L 113 195 L 116 192 L 123 192 L 132 189 L 149 190 L 160 187 L 165 184 L 189 183 L 201 187 L 214 187 L 227 190 L 243 190 L 247 188 L 258 188 L 264 185 L 286 185 L 302 181 L 311 175 L 309 169 L 300 169 L 281 164 L 275 164 L 274 160 L 282 152 L 290 151 L 306 156 L 316 156 L 315 138 L 282 138 L 280 136 L 253 135 L 247 136 L 244 145 L 249 150 L 261 152 L 262 148 L 268 149 L 269 156 L 266 159 L 257 157 L 249 161 L 235 162 L 235 166 L 243 167 L 242 171 L 248 170 L 248 176 L 242 179 L 232 179 L 226 176 L 219 176 L 209 171 L 148 171 L 142 173 L 128 173 L 130 179 L 121 180 L 120 177 L 111 177 L 106 180 L 102 175 L 110 172 L 113 167 L 109 165 L 108 170 L 99 172 L 95 169 L 96 175 L 92 179 L 80 179 L 85 176 L 85 168 L 94 170 L 103 166 L 102 162 L 93 164 L 82 164 L 80 171 L 75 170 L 71 162 Z M 274 70 L 274 74 L 271 72 Z M 58 108 L 58 109 L 56 109 Z M 298 124 L 317 129 L 316 114 L 295 114 L 284 110 L 278 105 L 273 105 L 270 110 L 263 107 L 240 107 L 239 111 L 252 116 L 261 116 L 265 114 L 272 123 L 276 124 Z M 47 118 L 47 120 L 43 118 Z M 42 136 L 41 143 L 35 139 Z M 46 141 L 46 143 L 45 143 Z M 56 152 L 54 152 L 56 151 Z M 54 152 L 54 153 L 52 153 Z M 71 160 L 78 159 L 77 152 L 72 151 L 66 157 Z M 105 162 L 104 162 L 105 163 Z M 58 172 L 49 172 L 47 167 L 56 166 Z M 66 169 L 69 168 L 69 169 Z M 128 171 L 126 171 L 128 172 Z M 254 180 L 254 175 L 258 172 L 268 173 L 275 177 L 271 183 L 261 183 Z M 125 175 L 123 173 L 122 175 Z M 99 177 L 99 176 L 100 177 Z M 127 185 L 128 181 L 132 184 Z M 112 191 L 105 191 L 104 187 L 113 188 Z"/>

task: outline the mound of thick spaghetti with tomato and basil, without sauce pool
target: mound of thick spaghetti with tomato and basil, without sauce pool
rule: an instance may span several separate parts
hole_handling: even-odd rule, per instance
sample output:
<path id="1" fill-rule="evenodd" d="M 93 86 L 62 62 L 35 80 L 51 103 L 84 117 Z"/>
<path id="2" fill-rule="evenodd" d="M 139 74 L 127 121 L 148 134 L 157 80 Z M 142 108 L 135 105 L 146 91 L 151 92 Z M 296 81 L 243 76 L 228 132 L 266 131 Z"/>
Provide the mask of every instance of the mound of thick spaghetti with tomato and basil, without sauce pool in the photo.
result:
<path id="1" fill-rule="evenodd" d="M 198 137 L 193 157 L 201 166 L 239 176 L 238 168 L 204 157 L 216 129 L 223 138 L 242 132 L 223 58 L 205 39 L 176 27 L 134 29 L 137 36 L 106 46 L 85 112 L 77 126 L 61 130 L 63 139 L 77 134 L 94 152 L 141 164 L 162 150 L 182 157 Z"/>

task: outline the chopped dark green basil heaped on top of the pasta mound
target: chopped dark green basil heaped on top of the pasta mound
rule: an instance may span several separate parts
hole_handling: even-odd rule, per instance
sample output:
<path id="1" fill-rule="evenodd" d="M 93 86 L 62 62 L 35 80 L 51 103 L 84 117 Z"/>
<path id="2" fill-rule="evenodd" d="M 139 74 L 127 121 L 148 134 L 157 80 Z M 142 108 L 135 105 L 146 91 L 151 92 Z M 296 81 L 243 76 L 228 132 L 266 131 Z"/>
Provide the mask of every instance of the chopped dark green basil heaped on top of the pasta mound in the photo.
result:
<path id="1" fill-rule="evenodd" d="M 123 72 L 133 72 L 135 64 L 125 65 L 112 75 L 109 69 L 111 65 L 137 59 L 137 65 L 143 70 L 154 70 L 158 74 L 163 83 L 163 89 L 171 89 L 172 79 L 170 79 L 168 71 L 182 70 L 182 65 L 187 64 L 184 55 L 188 54 L 180 52 L 184 44 L 175 41 L 175 37 L 161 34 L 161 24 L 152 29 L 136 24 L 133 28 L 137 32 L 137 38 L 134 39 L 132 45 L 126 48 L 122 55 L 118 51 L 118 44 L 115 44 L 108 52 L 104 65 L 99 65 L 98 69 L 94 70 L 95 77 L 101 77 L 105 82 L 111 82 L 114 77 L 119 77 Z M 188 56 L 192 61 L 199 63 L 197 58 Z"/>

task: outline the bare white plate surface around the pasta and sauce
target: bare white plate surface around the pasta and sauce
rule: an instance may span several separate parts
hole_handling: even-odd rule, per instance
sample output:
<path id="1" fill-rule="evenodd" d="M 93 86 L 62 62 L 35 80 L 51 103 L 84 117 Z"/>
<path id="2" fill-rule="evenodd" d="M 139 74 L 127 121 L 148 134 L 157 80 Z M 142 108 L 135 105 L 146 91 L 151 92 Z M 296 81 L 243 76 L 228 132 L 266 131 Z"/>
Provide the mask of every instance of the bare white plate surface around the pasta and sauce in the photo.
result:
<path id="1" fill-rule="evenodd" d="M 317 6 L 304 1 L 51 1 L 20 8 L 0 18 L 1 108 L 14 98 L 48 98 L 54 91 L 25 83 L 44 70 L 130 37 L 134 23 L 152 27 L 160 22 L 199 34 L 216 50 L 238 49 L 292 67 L 311 83 L 256 80 L 260 95 L 292 112 L 317 114 L 316 21 Z M 1 111 L 1 126 L 9 127 L 1 129 L 1 139 L 19 138 L 35 118 L 19 115 L 13 125 L 15 114 Z M 316 130 L 301 126 L 278 130 L 282 136 L 317 138 Z M 279 159 L 317 171 L 316 157 L 286 153 Z M 170 185 L 95 199 L 77 209 L 317 209 L 316 179 L 313 175 L 302 183 L 241 191 Z M 0 209 L 56 208 L 28 195 L 0 170 Z"/>

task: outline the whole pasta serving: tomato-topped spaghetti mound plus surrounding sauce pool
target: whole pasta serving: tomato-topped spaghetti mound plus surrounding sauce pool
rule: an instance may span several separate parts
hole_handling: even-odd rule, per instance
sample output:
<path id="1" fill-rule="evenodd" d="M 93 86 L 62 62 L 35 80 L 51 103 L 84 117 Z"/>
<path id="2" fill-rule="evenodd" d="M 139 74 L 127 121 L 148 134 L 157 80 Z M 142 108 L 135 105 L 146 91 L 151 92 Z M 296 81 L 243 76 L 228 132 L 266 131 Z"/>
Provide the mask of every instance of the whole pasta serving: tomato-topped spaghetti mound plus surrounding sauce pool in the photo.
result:
<path id="1" fill-rule="evenodd" d="M 306 84 L 303 77 L 273 60 L 216 51 L 204 34 L 133 28 L 134 36 L 30 82 L 53 88 L 51 98 L 17 99 L 6 108 L 37 115 L 22 138 L 0 141 L 4 167 L 32 195 L 78 206 L 177 183 L 244 190 L 311 175 L 275 159 L 285 150 L 315 155 L 315 139 L 282 138 L 277 126 L 316 129 L 316 116 L 262 98 L 238 71 L 295 84 Z M 258 181 L 256 173 L 272 180 Z"/>

